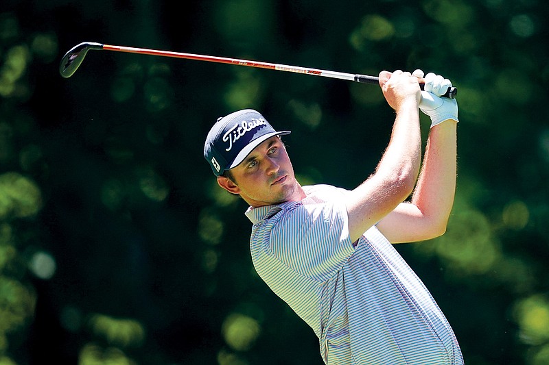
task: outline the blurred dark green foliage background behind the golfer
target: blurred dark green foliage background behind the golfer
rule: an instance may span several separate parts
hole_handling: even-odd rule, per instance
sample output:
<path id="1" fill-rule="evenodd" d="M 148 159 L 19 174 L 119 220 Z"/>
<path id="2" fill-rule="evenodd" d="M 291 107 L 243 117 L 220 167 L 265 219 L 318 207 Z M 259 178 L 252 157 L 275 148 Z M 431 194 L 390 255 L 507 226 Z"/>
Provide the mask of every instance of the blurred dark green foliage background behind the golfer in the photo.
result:
<path id="1" fill-rule="evenodd" d="M 447 234 L 397 249 L 466 364 L 549 364 L 549 66 L 539 0 L 29 1 L 0 6 L 0 364 L 321 364 L 253 270 L 246 205 L 202 158 L 256 108 L 302 184 L 354 188 L 393 112 L 377 86 L 147 55 L 150 47 L 458 87 Z M 423 132 L 428 121 L 422 117 Z"/>

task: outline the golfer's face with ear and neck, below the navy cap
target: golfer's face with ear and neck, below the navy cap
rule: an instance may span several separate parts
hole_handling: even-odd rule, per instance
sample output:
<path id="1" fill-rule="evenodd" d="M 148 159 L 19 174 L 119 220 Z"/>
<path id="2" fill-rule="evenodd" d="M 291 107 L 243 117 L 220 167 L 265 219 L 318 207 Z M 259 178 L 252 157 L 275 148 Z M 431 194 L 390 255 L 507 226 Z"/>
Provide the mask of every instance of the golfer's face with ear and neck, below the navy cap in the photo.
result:
<path id="1" fill-rule="evenodd" d="M 252 207 L 283 201 L 299 201 L 305 193 L 296 181 L 294 168 L 279 137 L 265 140 L 231 168 L 234 181 L 218 177 L 218 184 L 233 194 L 240 194 Z"/>

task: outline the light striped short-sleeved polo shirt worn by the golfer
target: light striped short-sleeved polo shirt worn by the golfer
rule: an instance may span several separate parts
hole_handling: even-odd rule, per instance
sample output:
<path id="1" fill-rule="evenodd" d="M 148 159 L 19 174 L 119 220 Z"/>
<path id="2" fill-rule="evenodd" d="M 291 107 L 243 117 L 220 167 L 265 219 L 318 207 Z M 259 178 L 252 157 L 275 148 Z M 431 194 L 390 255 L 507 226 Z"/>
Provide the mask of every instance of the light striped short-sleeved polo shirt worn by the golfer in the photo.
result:
<path id="1" fill-rule="evenodd" d="M 347 190 L 304 186 L 307 197 L 251 207 L 250 251 L 271 290 L 312 327 L 326 364 L 463 364 L 430 292 L 371 227 L 349 238 Z"/>

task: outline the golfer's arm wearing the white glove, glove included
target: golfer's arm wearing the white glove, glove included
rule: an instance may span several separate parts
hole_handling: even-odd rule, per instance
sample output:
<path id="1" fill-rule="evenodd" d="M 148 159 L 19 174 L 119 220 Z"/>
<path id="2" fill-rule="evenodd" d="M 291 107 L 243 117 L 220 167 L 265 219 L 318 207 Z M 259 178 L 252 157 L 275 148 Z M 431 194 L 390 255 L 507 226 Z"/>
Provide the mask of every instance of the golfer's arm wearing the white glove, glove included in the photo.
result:
<path id="1" fill-rule="evenodd" d="M 423 97 L 425 100 L 422 99 L 420 108 L 430 115 L 432 127 L 417 186 L 409 203 L 399 204 L 377 225 L 393 243 L 441 236 L 446 230 L 454 203 L 457 103 L 455 100 L 425 95 L 425 92 Z"/>

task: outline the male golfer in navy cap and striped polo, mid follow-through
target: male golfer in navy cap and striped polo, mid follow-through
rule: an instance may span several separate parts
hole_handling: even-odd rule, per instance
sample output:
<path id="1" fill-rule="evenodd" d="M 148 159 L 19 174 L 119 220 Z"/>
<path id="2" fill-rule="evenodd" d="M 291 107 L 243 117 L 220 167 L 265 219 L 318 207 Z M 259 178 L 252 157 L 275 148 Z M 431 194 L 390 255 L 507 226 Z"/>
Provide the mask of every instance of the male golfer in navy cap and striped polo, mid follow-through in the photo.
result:
<path id="1" fill-rule="evenodd" d="M 351 191 L 301 186 L 280 138 L 290 131 L 255 110 L 218 119 L 207 136 L 218 184 L 250 205 L 257 273 L 312 327 L 329 365 L 463 364 L 445 316 L 390 244 L 443 234 L 454 201 L 458 107 L 439 97 L 452 84 L 429 73 L 422 92 L 417 77 L 379 74 L 393 132 L 375 173 Z M 418 179 L 419 109 L 431 129 Z"/>

